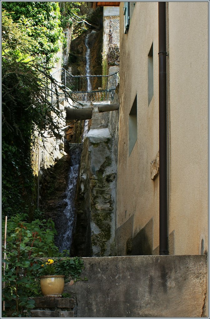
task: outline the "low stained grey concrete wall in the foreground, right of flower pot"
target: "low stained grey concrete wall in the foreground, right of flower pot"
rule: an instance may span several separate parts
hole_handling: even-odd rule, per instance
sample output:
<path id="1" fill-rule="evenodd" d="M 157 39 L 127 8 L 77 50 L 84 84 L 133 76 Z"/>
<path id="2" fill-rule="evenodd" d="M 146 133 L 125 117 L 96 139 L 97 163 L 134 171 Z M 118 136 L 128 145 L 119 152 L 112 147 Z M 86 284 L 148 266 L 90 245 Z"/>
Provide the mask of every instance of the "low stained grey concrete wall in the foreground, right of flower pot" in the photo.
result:
<path id="1" fill-rule="evenodd" d="M 83 258 L 88 281 L 65 285 L 77 317 L 205 316 L 206 255 Z"/>

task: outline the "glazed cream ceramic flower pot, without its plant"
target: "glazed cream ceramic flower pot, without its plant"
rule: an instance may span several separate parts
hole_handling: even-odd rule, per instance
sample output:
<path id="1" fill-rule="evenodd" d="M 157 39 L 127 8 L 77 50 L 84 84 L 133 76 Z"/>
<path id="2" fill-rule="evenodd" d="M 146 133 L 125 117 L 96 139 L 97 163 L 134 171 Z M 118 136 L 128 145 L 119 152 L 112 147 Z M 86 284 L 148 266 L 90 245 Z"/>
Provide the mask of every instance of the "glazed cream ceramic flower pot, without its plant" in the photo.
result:
<path id="1" fill-rule="evenodd" d="M 64 290 L 64 275 L 40 276 L 44 296 L 61 297 Z"/>

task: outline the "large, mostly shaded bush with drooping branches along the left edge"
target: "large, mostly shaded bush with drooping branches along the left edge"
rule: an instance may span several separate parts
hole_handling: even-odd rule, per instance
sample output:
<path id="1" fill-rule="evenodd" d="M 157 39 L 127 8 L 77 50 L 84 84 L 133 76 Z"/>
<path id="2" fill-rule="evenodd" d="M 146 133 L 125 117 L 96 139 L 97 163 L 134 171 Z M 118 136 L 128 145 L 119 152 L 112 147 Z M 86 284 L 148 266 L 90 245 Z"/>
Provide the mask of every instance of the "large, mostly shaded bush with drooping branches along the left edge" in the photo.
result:
<path id="1" fill-rule="evenodd" d="M 21 3 L 22 4 L 22 3 Z M 35 179 L 31 148 L 34 132 L 55 134 L 51 111 L 54 80 L 43 59 L 32 57 L 33 39 L 24 35 L 6 11 L 2 12 L 2 208 L 3 215 L 26 212 L 33 216 Z M 14 48 L 16 48 L 14 50 Z M 57 103 L 58 104 L 58 103 Z"/>

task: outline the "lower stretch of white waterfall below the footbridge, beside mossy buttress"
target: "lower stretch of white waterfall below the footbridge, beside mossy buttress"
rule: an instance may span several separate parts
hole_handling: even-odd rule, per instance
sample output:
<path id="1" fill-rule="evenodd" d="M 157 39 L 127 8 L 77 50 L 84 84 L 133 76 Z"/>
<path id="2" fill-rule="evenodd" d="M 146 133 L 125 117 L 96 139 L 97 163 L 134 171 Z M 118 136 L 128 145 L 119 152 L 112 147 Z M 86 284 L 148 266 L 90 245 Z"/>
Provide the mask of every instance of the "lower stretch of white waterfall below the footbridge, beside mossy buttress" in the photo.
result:
<path id="1" fill-rule="evenodd" d="M 66 188 L 66 208 L 63 211 L 63 234 L 59 236 L 59 250 L 70 250 L 72 244 L 72 234 L 75 221 L 75 193 L 79 174 L 80 159 L 82 147 L 81 144 L 70 144 L 71 167 L 68 176 L 68 186 Z"/>

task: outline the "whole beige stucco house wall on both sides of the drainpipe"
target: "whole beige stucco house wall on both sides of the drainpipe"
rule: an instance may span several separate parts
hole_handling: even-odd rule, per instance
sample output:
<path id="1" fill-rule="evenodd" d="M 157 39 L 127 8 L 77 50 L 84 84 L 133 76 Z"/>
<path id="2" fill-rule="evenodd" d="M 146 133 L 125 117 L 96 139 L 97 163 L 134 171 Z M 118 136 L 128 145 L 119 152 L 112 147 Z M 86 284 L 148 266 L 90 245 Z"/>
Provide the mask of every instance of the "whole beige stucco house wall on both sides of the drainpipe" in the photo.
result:
<path id="1" fill-rule="evenodd" d="M 153 218 L 159 246 L 158 3 L 136 2 L 124 34 L 120 5 L 120 122 L 116 228 L 133 215 L 135 236 Z M 208 239 L 208 3 L 167 4 L 168 233 L 175 254 L 200 254 Z M 148 53 L 153 42 L 154 95 L 148 107 Z M 128 156 L 128 117 L 137 93 L 137 141 Z M 156 250 L 157 253 L 157 250 Z"/>

